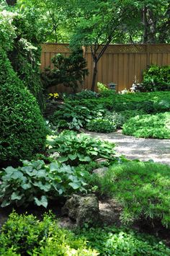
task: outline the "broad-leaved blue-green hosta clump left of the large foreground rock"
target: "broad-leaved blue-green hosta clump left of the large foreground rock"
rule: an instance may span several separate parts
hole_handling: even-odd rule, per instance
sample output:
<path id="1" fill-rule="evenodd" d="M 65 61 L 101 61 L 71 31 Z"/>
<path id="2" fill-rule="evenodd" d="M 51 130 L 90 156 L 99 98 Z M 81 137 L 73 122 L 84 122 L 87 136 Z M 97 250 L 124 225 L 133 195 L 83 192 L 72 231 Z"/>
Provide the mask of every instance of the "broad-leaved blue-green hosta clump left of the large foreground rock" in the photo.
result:
<path id="1" fill-rule="evenodd" d="M 45 164 L 42 160 L 24 161 L 23 167 L 6 167 L 0 176 L 1 207 L 28 206 L 33 202 L 46 208 L 50 199 L 84 191 L 86 185 L 81 171 L 58 162 Z"/>

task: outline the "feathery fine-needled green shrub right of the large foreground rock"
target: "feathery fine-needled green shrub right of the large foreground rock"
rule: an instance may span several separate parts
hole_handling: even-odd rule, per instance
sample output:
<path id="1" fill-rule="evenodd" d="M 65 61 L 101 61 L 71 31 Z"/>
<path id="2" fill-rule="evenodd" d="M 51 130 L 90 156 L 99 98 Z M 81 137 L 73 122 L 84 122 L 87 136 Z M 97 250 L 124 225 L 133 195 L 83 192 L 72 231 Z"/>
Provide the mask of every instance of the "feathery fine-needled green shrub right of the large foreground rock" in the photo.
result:
<path id="1" fill-rule="evenodd" d="M 113 165 L 104 177 L 94 175 L 99 193 L 122 205 L 124 224 L 134 221 L 161 221 L 170 227 L 170 167 L 152 162 Z M 94 183 L 91 185 L 94 186 Z"/>

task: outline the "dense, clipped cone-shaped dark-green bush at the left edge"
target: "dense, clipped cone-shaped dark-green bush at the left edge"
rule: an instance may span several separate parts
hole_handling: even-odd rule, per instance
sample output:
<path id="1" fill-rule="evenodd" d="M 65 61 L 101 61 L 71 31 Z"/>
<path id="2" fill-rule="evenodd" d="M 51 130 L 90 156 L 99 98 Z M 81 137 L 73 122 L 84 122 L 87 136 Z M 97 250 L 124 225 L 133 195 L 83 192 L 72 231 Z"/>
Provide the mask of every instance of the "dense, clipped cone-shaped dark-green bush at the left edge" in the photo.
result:
<path id="1" fill-rule="evenodd" d="M 31 159 L 45 147 L 47 129 L 35 97 L 24 89 L 4 52 L 0 52 L 0 159 Z"/>

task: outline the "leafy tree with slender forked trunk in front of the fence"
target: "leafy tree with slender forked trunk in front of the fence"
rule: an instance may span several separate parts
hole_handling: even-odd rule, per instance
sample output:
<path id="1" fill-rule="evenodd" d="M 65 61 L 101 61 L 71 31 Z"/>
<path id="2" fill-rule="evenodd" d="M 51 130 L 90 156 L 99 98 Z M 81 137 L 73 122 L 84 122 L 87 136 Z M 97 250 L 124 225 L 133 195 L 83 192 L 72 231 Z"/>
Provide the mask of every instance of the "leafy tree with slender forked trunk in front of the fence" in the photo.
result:
<path id="1" fill-rule="evenodd" d="M 125 37 L 125 19 L 128 17 L 120 1 L 91 0 L 74 1 L 79 12 L 71 47 L 89 46 L 94 69 L 91 90 L 97 79 L 97 63 L 110 43 L 120 42 Z"/>

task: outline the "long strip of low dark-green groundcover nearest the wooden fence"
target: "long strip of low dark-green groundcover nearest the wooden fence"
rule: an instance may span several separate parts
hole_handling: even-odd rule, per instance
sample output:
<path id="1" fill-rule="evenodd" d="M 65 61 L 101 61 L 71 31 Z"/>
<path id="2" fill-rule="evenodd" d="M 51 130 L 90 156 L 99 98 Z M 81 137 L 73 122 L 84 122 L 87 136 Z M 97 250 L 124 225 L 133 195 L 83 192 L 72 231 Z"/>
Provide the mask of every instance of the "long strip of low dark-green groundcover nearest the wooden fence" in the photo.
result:
<path id="1" fill-rule="evenodd" d="M 169 105 L 164 104 L 164 109 L 160 109 L 161 102 L 169 102 L 170 92 L 138 92 L 130 94 L 109 94 L 107 97 L 94 99 L 82 99 L 65 101 L 71 105 L 83 105 L 89 110 L 94 110 L 98 105 L 109 111 L 122 112 L 124 110 L 143 110 L 146 113 L 169 111 Z"/>

